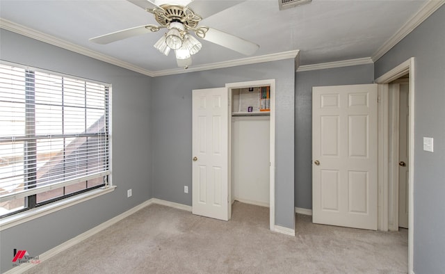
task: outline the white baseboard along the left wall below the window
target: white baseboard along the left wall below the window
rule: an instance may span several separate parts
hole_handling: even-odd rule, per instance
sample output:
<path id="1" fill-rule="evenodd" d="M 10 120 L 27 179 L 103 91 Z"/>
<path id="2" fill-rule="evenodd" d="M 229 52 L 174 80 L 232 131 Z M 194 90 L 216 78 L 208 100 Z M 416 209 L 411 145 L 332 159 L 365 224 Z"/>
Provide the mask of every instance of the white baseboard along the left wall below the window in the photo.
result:
<path id="1" fill-rule="evenodd" d="M 137 205 L 136 207 L 133 207 L 132 209 L 129 209 L 125 211 L 124 213 L 121 213 L 118 216 L 115 216 L 114 218 L 111 218 L 110 220 L 107 220 L 104 223 L 101 223 L 100 225 L 97 225 L 93 227 L 92 229 L 87 230 L 86 232 L 83 232 L 82 234 L 79 234 L 75 236 L 74 238 L 65 241 L 64 243 L 60 243 L 60 245 L 57 245 L 54 248 L 51 248 L 50 250 L 43 252 L 39 256 L 40 262 L 47 261 L 48 259 L 51 259 L 51 257 L 54 257 L 55 255 L 58 255 L 60 252 L 63 252 L 64 250 L 67 250 L 68 248 L 71 248 L 73 245 L 76 245 L 77 243 L 81 243 L 81 241 L 88 239 L 90 236 L 93 236 L 94 234 L 97 234 L 101 232 L 102 230 L 106 229 L 107 227 L 110 227 L 111 225 L 114 225 L 115 223 L 118 223 L 120 220 L 123 220 L 124 218 L 127 218 L 133 213 L 136 213 L 136 211 L 143 209 L 144 207 L 149 206 L 153 203 L 153 199 L 147 200 L 143 202 L 142 204 Z M 5 274 L 12 274 L 12 273 L 23 273 L 24 271 L 29 270 L 33 266 L 36 266 L 37 264 L 22 264 L 20 266 L 16 266 L 14 268 L 11 268 L 9 271 L 6 271 Z"/>

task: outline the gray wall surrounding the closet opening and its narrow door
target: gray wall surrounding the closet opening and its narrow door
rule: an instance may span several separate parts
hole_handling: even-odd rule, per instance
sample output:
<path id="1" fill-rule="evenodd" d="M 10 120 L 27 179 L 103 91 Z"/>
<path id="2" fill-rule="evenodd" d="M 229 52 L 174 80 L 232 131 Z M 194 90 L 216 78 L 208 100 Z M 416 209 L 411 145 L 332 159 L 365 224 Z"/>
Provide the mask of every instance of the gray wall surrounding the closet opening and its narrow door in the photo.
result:
<path id="1" fill-rule="evenodd" d="M 153 195 L 192 204 L 192 90 L 226 83 L 275 79 L 275 224 L 294 227 L 293 126 L 295 68 L 293 59 L 156 77 L 152 86 Z M 189 186 L 188 194 L 184 185 Z"/>

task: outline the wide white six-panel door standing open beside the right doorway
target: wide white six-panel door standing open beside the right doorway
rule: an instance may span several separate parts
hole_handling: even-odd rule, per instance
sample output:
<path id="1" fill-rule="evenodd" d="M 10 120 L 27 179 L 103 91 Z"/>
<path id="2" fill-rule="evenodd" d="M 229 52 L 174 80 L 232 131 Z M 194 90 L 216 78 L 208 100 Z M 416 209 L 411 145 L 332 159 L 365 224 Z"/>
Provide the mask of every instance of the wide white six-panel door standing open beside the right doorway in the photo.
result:
<path id="1" fill-rule="evenodd" d="M 377 85 L 312 90 L 314 223 L 377 229 Z"/>

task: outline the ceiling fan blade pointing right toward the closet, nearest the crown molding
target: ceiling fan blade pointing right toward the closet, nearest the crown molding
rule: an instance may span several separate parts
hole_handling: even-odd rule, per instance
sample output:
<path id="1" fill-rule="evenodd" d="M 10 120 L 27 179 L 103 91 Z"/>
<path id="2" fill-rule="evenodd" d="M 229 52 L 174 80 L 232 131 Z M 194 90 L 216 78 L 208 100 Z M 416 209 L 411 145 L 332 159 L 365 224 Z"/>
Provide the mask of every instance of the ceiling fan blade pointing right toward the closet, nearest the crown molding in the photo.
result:
<path id="1" fill-rule="evenodd" d="M 252 55 L 259 49 L 259 45 L 255 44 L 254 42 L 250 42 L 248 40 L 244 40 L 243 38 L 236 37 L 235 35 L 212 28 L 209 28 L 202 39 L 223 47 L 227 47 L 227 49 L 238 51 L 240 54 L 245 55 Z"/>

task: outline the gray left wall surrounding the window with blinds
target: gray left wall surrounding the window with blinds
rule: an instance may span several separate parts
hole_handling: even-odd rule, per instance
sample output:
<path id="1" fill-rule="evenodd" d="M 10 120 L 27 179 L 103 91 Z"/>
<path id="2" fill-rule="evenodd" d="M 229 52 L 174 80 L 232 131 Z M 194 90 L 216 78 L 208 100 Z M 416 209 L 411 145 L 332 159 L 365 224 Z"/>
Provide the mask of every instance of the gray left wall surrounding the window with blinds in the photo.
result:
<path id="1" fill-rule="evenodd" d="M 12 267 L 13 248 L 31 256 L 95 227 L 151 198 L 149 76 L 97 61 L 0 29 L 0 58 L 45 70 L 111 83 L 113 108 L 112 193 L 31 220 L 0 232 L 1 268 Z M 127 189 L 133 196 L 127 198 Z"/>

